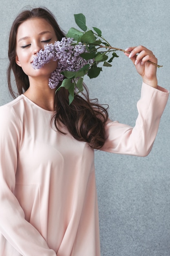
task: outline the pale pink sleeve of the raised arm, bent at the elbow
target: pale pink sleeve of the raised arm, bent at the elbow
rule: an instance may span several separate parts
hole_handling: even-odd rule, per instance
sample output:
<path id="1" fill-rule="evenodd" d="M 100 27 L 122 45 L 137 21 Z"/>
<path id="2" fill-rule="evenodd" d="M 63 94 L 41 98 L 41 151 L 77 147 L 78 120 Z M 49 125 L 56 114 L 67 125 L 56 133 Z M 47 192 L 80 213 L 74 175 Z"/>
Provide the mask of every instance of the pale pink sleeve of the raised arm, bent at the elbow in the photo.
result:
<path id="1" fill-rule="evenodd" d="M 137 102 L 138 117 L 135 127 L 108 120 L 106 141 L 101 150 L 127 155 L 146 156 L 152 149 L 161 115 L 169 92 L 143 83 L 141 98 Z"/>

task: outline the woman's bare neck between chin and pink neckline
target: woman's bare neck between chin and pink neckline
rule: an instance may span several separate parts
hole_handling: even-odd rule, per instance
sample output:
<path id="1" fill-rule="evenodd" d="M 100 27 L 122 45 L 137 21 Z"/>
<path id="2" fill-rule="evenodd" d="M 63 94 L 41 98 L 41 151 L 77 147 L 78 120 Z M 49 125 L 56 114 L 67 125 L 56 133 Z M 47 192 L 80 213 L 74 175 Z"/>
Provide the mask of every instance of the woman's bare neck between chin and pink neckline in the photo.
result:
<path id="1" fill-rule="evenodd" d="M 30 83 L 29 89 L 24 93 L 31 101 L 49 111 L 55 110 L 55 89 L 49 88 L 49 85 L 41 82 Z"/>

